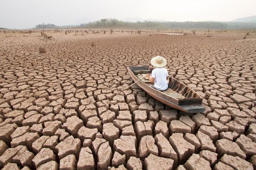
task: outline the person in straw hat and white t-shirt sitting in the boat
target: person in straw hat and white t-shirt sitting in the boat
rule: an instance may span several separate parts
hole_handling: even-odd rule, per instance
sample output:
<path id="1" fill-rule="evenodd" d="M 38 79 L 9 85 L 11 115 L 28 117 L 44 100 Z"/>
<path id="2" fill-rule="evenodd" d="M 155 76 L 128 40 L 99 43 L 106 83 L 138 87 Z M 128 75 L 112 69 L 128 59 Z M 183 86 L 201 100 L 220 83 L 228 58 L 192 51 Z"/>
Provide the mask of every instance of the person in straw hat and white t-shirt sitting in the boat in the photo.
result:
<path id="1" fill-rule="evenodd" d="M 153 85 L 151 87 L 159 90 L 164 91 L 168 89 L 169 79 L 168 79 L 168 71 L 164 66 L 167 64 L 165 58 L 161 56 L 155 56 L 151 59 L 151 64 L 156 68 L 152 70 L 152 75 L 146 74 L 146 77 Z"/>

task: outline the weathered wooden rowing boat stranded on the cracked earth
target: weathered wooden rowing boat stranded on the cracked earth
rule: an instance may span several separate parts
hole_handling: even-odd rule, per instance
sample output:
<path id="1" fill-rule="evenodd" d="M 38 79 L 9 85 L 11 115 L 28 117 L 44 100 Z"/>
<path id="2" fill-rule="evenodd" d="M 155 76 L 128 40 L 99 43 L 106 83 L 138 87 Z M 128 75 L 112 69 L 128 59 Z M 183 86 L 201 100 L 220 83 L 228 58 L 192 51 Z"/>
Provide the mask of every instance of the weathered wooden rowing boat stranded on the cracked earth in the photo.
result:
<path id="1" fill-rule="evenodd" d="M 146 73 L 151 73 L 154 68 L 145 65 L 129 66 L 127 69 L 131 78 L 136 82 L 145 77 Z M 200 113 L 205 111 L 205 108 L 202 105 L 203 99 L 196 91 L 172 77 L 170 77 L 169 80 L 169 88 L 165 91 L 159 91 L 150 87 L 150 84 L 152 83 L 147 78 L 139 81 L 137 85 L 156 100 L 173 108 L 188 113 Z"/>

